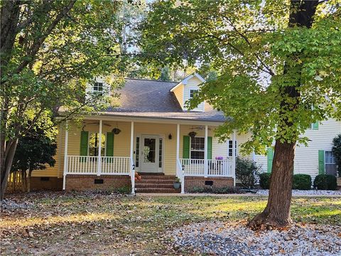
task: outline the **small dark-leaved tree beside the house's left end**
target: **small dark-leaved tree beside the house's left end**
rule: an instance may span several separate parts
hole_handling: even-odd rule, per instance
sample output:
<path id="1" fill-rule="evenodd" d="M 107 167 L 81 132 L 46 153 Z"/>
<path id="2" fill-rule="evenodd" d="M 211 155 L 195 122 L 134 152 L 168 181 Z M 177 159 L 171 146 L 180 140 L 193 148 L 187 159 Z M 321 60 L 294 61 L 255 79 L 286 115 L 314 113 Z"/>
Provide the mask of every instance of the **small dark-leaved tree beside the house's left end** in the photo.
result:
<path id="1" fill-rule="evenodd" d="M 31 191 L 32 171 L 45 169 L 46 164 L 55 165 L 53 156 L 55 156 L 56 149 L 57 144 L 54 139 L 46 136 L 41 129 L 37 129 L 33 134 L 26 134 L 18 140 L 12 171 L 21 171 L 23 191 Z M 27 171 L 28 177 L 26 178 Z"/>

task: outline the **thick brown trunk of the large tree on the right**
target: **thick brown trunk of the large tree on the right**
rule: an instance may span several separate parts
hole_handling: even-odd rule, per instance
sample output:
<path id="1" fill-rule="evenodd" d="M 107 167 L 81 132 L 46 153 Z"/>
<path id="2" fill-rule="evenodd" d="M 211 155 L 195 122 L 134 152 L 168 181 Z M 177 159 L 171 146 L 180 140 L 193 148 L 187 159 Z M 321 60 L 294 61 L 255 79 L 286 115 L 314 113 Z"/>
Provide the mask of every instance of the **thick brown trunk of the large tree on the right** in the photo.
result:
<path id="1" fill-rule="evenodd" d="M 289 27 L 301 26 L 311 28 L 313 16 L 315 15 L 318 0 L 291 0 L 291 14 L 289 16 Z M 299 56 L 288 56 L 289 58 L 299 58 Z M 301 86 L 301 67 L 295 70 L 298 80 L 296 85 L 283 85 L 283 102 L 281 109 L 286 111 L 296 111 L 300 100 L 299 87 Z M 288 67 L 284 68 L 284 73 L 288 72 Z M 291 101 L 288 102 L 288 98 Z M 293 102 L 293 103 L 292 103 Z M 286 118 L 284 113 L 279 113 Z M 289 119 L 283 119 L 286 127 L 292 127 Z M 280 124 L 281 125 L 281 124 Z M 296 136 L 297 134 L 293 134 Z M 295 141 L 295 139 L 293 139 Z M 274 161 L 272 164 L 271 183 L 269 190 L 269 199 L 266 208 L 262 213 L 256 215 L 250 222 L 249 227 L 261 228 L 262 226 L 285 227 L 291 224 L 291 190 L 293 185 L 293 160 L 295 157 L 296 142 L 288 142 L 283 138 L 276 140 Z"/>

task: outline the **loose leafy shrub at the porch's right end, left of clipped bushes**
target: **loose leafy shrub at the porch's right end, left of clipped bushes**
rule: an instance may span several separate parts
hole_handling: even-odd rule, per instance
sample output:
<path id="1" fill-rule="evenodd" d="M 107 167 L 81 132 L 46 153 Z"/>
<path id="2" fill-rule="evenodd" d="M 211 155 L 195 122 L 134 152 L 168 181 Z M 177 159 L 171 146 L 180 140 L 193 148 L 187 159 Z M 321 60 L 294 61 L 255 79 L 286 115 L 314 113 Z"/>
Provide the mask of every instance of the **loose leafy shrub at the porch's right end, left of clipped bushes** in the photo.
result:
<path id="1" fill-rule="evenodd" d="M 259 181 L 260 166 L 256 161 L 237 157 L 236 159 L 236 178 L 245 188 L 254 188 Z"/>

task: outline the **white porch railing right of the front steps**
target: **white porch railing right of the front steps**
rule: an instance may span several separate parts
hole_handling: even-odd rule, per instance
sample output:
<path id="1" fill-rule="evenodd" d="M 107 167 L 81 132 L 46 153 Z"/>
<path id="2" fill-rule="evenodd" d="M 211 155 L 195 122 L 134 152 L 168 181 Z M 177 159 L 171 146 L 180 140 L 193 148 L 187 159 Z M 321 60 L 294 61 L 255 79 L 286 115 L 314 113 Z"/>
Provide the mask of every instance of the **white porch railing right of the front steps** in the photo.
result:
<path id="1" fill-rule="evenodd" d="M 180 163 L 184 167 L 184 176 L 233 177 L 232 159 L 207 159 L 207 166 L 204 159 L 180 159 Z"/>

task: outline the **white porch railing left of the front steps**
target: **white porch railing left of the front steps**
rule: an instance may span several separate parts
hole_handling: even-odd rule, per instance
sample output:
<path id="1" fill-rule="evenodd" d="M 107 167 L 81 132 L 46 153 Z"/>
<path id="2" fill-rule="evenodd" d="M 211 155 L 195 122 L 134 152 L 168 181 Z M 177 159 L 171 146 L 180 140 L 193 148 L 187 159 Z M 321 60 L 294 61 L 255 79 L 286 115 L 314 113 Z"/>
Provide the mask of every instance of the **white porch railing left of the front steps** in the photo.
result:
<path id="1" fill-rule="evenodd" d="M 98 160 L 99 156 L 67 156 L 66 174 L 131 174 L 131 159 L 129 156 L 101 156 L 100 165 Z"/>

